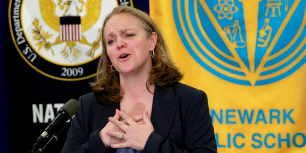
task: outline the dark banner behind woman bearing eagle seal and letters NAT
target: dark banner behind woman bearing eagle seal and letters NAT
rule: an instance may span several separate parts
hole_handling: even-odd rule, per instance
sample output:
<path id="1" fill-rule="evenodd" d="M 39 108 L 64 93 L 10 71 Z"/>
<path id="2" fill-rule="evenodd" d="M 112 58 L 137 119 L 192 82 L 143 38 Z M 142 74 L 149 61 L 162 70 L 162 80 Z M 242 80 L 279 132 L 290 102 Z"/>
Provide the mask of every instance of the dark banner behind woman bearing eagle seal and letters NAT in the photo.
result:
<path id="1" fill-rule="evenodd" d="M 99 29 L 112 7 L 127 4 L 149 13 L 149 0 L 75 0 L 78 12 L 72 18 L 78 24 L 71 30 L 80 29 L 67 35 L 60 29 L 70 24 L 64 18 L 71 15 L 64 1 L 1 0 L 1 153 L 31 152 L 58 109 L 92 91 L 89 82 L 102 51 Z M 47 153 L 60 152 L 69 127 L 67 121 Z"/>

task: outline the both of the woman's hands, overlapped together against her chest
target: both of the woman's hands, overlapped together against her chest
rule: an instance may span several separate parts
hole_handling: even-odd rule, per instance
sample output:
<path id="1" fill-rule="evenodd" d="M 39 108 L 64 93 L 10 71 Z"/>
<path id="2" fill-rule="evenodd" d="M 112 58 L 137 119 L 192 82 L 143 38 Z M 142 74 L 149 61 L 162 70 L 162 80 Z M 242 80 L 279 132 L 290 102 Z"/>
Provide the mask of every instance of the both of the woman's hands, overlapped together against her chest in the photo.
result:
<path id="1" fill-rule="evenodd" d="M 109 122 L 99 134 L 106 147 L 133 148 L 142 151 L 153 131 L 148 111 L 143 112 L 142 115 L 130 117 L 116 110 L 115 116 L 109 117 Z"/>

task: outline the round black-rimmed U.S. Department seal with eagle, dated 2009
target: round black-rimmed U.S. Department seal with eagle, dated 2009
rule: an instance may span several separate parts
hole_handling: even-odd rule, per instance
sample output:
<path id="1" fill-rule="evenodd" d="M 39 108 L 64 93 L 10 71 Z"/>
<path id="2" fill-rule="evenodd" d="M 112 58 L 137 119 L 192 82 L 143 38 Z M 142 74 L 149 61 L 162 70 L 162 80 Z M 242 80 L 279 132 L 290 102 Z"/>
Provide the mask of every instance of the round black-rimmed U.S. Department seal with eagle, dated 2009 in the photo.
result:
<path id="1" fill-rule="evenodd" d="M 124 0 L 10 0 L 9 24 L 20 56 L 44 76 L 76 81 L 96 75 L 103 19 Z"/>

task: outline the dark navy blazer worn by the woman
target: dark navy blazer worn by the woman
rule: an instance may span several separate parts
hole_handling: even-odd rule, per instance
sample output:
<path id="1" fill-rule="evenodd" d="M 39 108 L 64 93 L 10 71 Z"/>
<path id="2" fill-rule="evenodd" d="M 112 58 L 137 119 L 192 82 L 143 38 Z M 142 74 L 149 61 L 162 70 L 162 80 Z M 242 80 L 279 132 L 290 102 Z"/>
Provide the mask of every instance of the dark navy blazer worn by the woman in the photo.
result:
<path id="1" fill-rule="evenodd" d="M 119 103 L 102 104 L 93 93 L 79 97 L 80 110 L 71 127 L 62 153 L 115 153 L 106 148 L 99 131 L 115 115 Z M 163 88 L 155 86 L 151 122 L 154 132 L 143 153 L 216 153 L 206 94 L 182 83 Z"/>

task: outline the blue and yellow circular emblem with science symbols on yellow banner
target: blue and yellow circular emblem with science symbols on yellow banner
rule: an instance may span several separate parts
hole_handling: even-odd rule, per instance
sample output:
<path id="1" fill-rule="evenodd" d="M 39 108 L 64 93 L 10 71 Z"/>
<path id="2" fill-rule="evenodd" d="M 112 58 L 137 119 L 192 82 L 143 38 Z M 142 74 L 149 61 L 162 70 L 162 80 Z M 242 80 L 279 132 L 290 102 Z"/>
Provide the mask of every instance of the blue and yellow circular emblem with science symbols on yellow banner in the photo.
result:
<path id="1" fill-rule="evenodd" d="M 232 83 L 270 84 L 306 62 L 304 0 L 173 0 L 191 56 Z"/>

